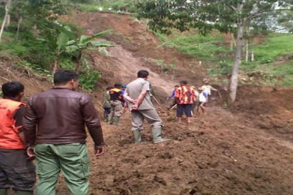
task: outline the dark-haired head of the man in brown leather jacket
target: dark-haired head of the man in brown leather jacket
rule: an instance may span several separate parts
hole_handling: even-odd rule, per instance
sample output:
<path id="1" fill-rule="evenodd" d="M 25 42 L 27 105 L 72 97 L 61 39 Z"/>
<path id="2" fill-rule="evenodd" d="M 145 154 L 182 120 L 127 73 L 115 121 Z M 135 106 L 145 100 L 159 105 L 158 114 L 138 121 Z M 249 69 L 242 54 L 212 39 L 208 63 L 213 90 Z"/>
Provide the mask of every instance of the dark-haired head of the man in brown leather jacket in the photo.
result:
<path id="1" fill-rule="evenodd" d="M 76 90 L 78 87 L 78 75 L 73 70 L 61 70 L 54 74 L 54 85 Z"/>

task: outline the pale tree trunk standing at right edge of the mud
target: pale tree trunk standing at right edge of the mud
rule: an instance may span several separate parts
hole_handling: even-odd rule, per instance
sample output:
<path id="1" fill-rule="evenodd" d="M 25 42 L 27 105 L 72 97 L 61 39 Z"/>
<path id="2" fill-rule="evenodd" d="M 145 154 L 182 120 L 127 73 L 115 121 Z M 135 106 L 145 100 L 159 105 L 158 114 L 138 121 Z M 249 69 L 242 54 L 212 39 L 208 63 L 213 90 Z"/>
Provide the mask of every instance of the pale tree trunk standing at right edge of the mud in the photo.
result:
<path id="1" fill-rule="evenodd" d="M 237 85 L 238 85 L 238 71 L 241 63 L 241 53 L 243 47 L 243 31 L 244 31 L 244 19 L 238 19 L 237 21 L 237 39 L 236 39 L 236 53 L 234 59 L 234 65 L 232 75 L 230 78 L 230 102 L 234 102 L 236 99 Z"/>

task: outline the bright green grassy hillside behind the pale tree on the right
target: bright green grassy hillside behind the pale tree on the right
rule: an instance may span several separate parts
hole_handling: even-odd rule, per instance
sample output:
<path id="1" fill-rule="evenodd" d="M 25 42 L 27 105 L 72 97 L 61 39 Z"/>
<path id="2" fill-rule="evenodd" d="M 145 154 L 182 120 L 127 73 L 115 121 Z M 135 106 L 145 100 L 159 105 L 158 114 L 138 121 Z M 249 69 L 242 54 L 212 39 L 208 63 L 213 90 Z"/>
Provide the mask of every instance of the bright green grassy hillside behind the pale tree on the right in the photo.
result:
<path id="1" fill-rule="evenodd" d="M 156 36 L 163 41 L 161 46 L 176 48 L 203 61 L 208 65 L 208 74 L 211 76 L 229 75 L 233 65 L 233 53 L 228 44 L 223 43 L 220 33 L 202 36 L 196 31 L 180 33 L 173 31 L 167 36 L 156 32 Z M 283 84 L 293 86 L 293 35 L 269 34 L 268 38 L 259 45 L 250 45 L 255 55 L 254 62 L 242 62 L 241 71 L 249 76 L 257 76 L 258 81 L 265 85 Z M 289 62 L 274 65 L 284 55 L 292 55 Z M 159 63 L 158 61 L 157 63 Z M 163 62 L 162 62 L 163 63 Z M 270 64 L 268 64 L 270 63 Z M 254 82 L 254 79 L 251 80 Z"/>

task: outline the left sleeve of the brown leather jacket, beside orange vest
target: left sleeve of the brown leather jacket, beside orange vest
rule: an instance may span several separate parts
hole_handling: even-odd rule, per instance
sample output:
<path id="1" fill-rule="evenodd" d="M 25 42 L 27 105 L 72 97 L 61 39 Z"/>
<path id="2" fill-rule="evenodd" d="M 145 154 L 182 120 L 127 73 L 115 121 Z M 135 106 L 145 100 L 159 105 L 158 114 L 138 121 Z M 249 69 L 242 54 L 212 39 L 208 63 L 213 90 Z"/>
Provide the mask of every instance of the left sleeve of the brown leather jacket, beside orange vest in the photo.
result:
<path id="1" fill-rule="evenodd" d="M 35 145 L 37 123 L 38 117 L 32 107 L 32 98 L 30 98 L 22 118 L 25 141 L 29 146 Z"/>

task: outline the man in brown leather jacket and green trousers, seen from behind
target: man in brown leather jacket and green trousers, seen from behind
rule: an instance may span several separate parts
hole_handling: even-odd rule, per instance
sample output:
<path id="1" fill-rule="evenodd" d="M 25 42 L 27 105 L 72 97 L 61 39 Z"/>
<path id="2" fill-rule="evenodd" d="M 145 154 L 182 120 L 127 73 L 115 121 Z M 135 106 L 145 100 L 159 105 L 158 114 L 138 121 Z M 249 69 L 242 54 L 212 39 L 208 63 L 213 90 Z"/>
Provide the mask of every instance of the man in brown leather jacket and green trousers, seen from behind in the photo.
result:
<path id="1" fill-rule="evenodd" d="M 104 154 L 98 114 L 85 94 L 75 92 L 78 75 L 63 70 L 54 75 L 55 88 L 33 96 L 23 117 L 29 156 L 37 158 L 37 195 L 55 195 L 60 171 L 71 195 L 88 194 L 89 160 L 85 125 L 94 140 L 95 155 Z M 34 149 L 33 149 L 34 147 Z"/>

